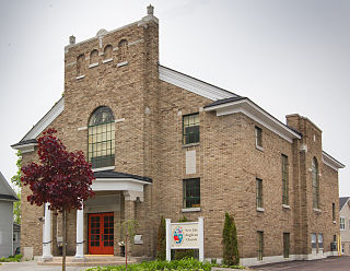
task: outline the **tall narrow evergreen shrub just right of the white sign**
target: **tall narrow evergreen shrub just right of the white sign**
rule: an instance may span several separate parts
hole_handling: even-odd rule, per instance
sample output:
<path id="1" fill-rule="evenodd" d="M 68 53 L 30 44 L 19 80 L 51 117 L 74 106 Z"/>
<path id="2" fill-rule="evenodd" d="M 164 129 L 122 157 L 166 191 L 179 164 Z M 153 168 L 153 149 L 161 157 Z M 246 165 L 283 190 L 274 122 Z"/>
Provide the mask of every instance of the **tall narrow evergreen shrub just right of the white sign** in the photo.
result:
<path id="1" fill-rule="evenodd" d="M 225 222 L 222 231 L 223 263 L 235 266 L 240 263 L 236 225 L 233 215 L 225 213 Z"/>

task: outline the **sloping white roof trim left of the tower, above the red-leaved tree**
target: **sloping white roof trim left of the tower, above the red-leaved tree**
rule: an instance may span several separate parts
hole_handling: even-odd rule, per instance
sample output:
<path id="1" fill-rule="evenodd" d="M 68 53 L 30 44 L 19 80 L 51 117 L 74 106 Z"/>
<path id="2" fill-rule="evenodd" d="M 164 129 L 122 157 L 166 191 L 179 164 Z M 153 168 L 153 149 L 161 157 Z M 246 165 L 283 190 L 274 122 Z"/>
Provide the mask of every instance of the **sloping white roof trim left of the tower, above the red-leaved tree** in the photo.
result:
<path id="1" fill-rule="evenodd" d="M 55 106 L 24 136 L 21 141 L 35 139 L 65 110 L 65 98 L 60 98 Z M 14 148 L 13 148 L 14 149 Z"/>

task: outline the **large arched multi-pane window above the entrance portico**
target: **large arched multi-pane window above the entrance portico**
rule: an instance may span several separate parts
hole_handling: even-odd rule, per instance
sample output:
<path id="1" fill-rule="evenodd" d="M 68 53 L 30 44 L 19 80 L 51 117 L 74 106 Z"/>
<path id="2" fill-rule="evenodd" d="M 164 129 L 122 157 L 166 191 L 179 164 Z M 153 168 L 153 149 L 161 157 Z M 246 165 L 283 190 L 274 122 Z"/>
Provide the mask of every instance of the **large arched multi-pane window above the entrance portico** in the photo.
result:
<path id="1" fill-rule="evenodd" d="M 98 107 L 89 120 L 89 162 L 93 168 L 114 166 L 115 123 L 109 107 Z"/>

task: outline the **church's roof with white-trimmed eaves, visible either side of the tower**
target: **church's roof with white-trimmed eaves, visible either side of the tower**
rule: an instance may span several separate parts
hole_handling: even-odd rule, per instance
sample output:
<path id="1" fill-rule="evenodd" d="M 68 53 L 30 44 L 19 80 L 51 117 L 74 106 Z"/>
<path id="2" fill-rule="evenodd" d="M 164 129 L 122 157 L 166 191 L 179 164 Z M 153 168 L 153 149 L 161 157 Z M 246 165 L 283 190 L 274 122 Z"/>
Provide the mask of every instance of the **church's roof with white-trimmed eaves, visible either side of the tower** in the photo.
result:
<path id="1" fill-rule="evenodd" d="M 264 110 L 247 97 L 242 97 L 235 93 L 161 64 L 159 64 L 159 78 L 164 82 L 213 101 L 213 103 L 205 106 L 205 110 L 215 110 L 217 116 L 229 114 L 229 111 L 230 114 L 242 111 L 289 142 L 292 142 L 292 140 L 295 138 L 300 139 L 302 136 L 300 132 L 279 121 L 277 118 Z M 40 134 L 63 111 L 63 109 L 65 98 L 61 97 L 19 143 L 11 146 L 15 150 L 22 151 L 22 153 L 34 151 L 34 146 L 37 144 L 36 137 Z M 335 170 L 345 167 L 345 165 L 325 152 L 323 152 L 323 161 L 326 165 L 330 166 Z"/>

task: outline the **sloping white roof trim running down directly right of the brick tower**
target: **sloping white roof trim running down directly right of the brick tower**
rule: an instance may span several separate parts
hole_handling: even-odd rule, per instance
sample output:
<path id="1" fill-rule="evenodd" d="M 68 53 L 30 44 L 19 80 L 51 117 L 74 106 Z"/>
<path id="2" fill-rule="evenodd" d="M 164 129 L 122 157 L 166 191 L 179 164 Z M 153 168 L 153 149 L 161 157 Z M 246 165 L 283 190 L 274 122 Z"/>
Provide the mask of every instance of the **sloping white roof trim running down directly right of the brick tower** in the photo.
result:
<path id="1" fill-rule="evenodd" d="M 179 73 L 177 71 L 171 70 L 162 66 L 159 66 L 159 73 L 160 80 L 182 87 L 186 91 L 196 93 L 206 98 L 217 101 L 221 98 L 230 98 L 237 96 L 214 85 L 205 83 L 200 80 L 194 79 L 191 76 L 185 75 L 183 73 Z"/>

